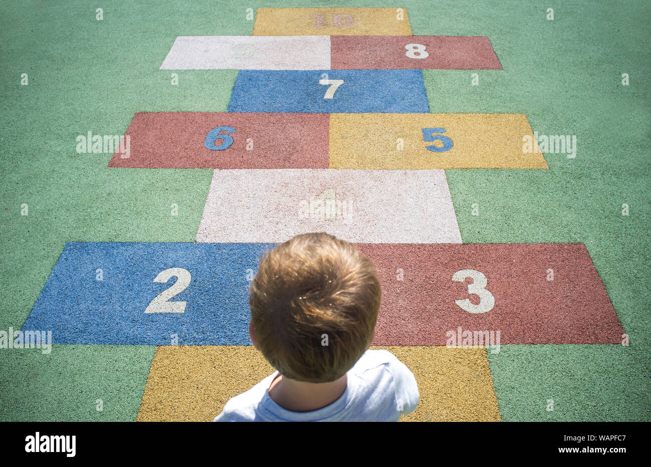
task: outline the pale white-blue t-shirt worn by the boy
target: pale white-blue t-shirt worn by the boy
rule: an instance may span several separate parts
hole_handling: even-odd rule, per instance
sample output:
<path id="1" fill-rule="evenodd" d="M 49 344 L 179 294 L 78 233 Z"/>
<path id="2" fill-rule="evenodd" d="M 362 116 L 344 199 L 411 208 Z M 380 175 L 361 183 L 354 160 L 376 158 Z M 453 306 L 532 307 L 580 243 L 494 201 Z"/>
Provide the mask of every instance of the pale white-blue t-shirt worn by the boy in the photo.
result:
<path id="1" fill-rule="evenodd" d="M 292 412 L 269 397 L 276 375 L 230 399 L 214 421 L 398 421 L 419 400 L 413 373 L 387 350 L 367 350 L 348 371 L 339 399 L 312 412 Z"/>

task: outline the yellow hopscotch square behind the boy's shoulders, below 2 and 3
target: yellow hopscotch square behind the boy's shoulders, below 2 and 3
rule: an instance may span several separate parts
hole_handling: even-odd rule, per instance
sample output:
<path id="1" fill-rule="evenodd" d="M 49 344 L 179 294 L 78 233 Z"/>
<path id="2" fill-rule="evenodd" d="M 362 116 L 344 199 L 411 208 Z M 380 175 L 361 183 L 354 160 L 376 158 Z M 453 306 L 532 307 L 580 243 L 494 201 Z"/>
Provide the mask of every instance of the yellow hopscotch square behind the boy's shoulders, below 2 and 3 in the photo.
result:
<path id="1" fill-rule="evenodd" d="M 484 348 L 384 348 L 414 373 L 420 401 L 404 421 L 499 421 Z M 138 421 L 212 421 L 275 369 L 252 346 L 156 348 Z"/>

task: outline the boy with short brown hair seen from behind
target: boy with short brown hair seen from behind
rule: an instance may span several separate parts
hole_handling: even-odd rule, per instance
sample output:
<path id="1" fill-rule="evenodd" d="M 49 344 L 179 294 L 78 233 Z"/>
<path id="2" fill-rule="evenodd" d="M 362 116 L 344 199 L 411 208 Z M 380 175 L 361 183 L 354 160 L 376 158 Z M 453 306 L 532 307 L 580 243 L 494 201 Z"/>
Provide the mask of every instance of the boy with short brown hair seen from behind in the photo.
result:
<path id="1" fill-rule="evenodd" d="M 249 291 L 249 335 L 278 371 L 214 421 L 397 421 L 419 400 L 409 369 L 368 350 L 380 281 L 357 248 L 326 233 L 266 253 Z"/>

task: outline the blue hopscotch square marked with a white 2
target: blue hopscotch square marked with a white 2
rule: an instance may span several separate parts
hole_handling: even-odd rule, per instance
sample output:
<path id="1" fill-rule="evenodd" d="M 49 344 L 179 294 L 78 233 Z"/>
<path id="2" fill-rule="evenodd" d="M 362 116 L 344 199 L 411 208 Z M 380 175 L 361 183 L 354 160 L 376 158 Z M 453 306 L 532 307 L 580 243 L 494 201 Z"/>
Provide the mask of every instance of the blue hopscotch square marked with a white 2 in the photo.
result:
<path id="1" fill-rule="evenodd" d="M 251 345 L 249 278 L 273 246 L 68 243 L 22 330 L 51 330 L 55 344 Z M 169 268 L 189 274 L 169 298 L 183 313 L 145 313 L 180 280 L 154 282 Z"/>

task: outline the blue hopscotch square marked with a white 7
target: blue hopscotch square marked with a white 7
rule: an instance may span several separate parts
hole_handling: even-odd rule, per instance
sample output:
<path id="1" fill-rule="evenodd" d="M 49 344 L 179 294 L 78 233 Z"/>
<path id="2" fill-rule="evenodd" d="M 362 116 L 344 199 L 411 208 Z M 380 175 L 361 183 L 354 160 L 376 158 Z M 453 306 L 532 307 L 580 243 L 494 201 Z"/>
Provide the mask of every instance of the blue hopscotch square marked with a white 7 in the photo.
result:
<path id="1" fill-rule="evenodd" d="M 332 98 L 330 84 L 341 80 Z M 428 113 L 421 70 L 240 70 L 229 112 Z"/>

